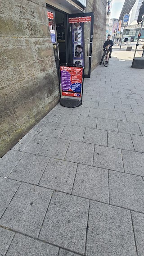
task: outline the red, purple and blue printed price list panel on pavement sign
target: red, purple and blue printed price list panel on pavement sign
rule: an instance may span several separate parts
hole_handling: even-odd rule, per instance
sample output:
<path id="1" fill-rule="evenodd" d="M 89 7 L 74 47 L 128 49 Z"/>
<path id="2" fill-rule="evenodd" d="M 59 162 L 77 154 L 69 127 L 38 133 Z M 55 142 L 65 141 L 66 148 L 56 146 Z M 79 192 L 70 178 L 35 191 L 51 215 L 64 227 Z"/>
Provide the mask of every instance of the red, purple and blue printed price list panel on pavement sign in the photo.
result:
<path id="1" fill-rule="evenodd" d="M 83 68 L 60 66 L 62 96 L 81 97 Z"/>

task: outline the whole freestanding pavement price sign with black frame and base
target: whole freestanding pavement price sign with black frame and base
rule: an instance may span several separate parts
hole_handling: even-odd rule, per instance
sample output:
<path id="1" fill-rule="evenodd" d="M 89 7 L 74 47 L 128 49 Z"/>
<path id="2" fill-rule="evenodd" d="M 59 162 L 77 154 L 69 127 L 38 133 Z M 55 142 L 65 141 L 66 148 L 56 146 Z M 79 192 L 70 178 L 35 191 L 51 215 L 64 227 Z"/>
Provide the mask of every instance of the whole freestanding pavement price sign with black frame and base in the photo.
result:
<path id="1" fill-rule="evenodd" d="M 60 105 L 76 108 L 82 104 L 84 67 L 80 64 L 60 64 Z"/>

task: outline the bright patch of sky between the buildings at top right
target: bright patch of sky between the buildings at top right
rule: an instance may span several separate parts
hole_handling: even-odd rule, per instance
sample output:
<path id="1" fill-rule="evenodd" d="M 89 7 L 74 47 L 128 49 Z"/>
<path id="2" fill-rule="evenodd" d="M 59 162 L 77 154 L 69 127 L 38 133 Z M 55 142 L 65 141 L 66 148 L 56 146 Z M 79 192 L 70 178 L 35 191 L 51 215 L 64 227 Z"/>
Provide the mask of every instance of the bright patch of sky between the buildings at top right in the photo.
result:
<path id="1" fill-rule="evenodd" d="M 110 18 L 119 18 L 121 14 L 121 9 L 123 7 L 125 0 L 112 0 L 112 9 Z"/>

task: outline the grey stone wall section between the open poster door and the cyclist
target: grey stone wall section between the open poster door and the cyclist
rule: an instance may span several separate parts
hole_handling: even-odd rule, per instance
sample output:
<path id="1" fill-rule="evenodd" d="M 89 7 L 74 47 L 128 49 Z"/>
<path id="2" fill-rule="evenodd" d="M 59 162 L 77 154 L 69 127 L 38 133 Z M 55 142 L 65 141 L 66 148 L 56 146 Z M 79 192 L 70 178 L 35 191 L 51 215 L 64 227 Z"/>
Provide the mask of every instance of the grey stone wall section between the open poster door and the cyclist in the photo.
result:
<path id="1" fill-rule="evenodd" d="M 106 41 L 106 2 L 106 0 L 87 0 L 85 12 L 94 12 L 91 71 L 99 65 L 103 54 L 103 43 Z"/>

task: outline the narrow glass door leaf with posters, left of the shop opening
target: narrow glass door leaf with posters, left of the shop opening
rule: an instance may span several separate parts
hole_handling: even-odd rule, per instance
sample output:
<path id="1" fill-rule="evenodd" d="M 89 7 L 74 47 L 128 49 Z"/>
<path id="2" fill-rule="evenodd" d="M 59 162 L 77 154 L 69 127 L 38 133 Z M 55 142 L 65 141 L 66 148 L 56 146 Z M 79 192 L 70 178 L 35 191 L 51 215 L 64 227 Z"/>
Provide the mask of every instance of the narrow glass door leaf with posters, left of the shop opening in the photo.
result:
<path id="1" fill-rule="evenodd" d="M 57 41 L 57 30 L 56 30 L 54 9 L 49 8 L 47 6 L 47 15 L 48 15 L 48 19 L 49 19 L 50 37 L 51 37 L 51 41 L 52 41 L 53 47 L 54 47 L 54 57 L 55 57 L 57 71 L 58 71 L 60 58 L 59 58 L 59 47 L 58 47 L 59 44 Z"/>

